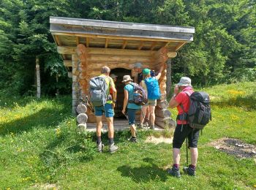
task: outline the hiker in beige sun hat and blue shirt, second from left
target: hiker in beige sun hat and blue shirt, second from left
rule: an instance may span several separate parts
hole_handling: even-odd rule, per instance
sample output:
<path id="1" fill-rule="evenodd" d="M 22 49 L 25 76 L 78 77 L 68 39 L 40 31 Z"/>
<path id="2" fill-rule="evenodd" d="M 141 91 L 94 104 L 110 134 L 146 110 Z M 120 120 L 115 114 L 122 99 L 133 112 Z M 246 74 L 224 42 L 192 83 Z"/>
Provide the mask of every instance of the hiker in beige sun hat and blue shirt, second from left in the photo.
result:
<path id="1" fill-rule="evenodd" d="M 129 139 L 130 142 L 137 142 L 136 138 L 136 126 L 135 126 L 135 114 L 141 109 L 141 106 L 133 103 L 134 99 L 134 83 L 129 75 L 124 75 L 122 83 L 124 86 L 124 106 L 122 113 L 127 116 L 132 137 Z M 127 108 L 127 113 L 126 113 Z"/>

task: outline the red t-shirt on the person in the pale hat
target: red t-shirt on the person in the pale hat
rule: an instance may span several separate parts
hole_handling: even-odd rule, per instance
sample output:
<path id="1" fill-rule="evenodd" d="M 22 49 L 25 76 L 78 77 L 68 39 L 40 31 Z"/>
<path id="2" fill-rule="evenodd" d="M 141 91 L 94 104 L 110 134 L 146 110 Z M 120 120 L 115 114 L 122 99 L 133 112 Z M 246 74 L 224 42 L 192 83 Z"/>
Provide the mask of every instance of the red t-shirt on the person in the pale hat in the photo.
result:
<path id="1" fill-rule="evenodd" d="M 175 97 L 176 102 L 178 102 L 177 110 L 178 115 L 181 115 L 182 113 L 187 113 L 189 111 L 189 96 L 185 93 L 185 91 L 189 91 L 190 94 L 192 94 L 193 88 L 191 86 L 187 86 L 183 89 L 180 93 L 177 94 Z M 181 104 L 183 105 L 184 111 L 181 108 Z M 187 124 L 186 120 L 177 120 L 177 124 Z"/>

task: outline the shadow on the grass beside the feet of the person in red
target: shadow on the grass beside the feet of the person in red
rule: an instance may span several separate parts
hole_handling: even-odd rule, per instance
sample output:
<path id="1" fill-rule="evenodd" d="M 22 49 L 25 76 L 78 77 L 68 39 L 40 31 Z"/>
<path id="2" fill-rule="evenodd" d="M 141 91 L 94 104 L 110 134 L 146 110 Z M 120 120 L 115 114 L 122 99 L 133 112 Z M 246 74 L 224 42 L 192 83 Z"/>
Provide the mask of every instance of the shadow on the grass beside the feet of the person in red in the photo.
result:
<path id="1" fill-rule="evenodd" d="M 141 167 L 124 165 L 118 167 L 117 170 L 121 172 L 121 176 L 132 178 L 136 183 L 146 183 L 150 180 L 167 180 L 167 172 L 162 168 L 159 168 L 157 164 L 154 164 L 153 159 L 144 158 L 143 161 L 148 162 L 151 165 Z"/>

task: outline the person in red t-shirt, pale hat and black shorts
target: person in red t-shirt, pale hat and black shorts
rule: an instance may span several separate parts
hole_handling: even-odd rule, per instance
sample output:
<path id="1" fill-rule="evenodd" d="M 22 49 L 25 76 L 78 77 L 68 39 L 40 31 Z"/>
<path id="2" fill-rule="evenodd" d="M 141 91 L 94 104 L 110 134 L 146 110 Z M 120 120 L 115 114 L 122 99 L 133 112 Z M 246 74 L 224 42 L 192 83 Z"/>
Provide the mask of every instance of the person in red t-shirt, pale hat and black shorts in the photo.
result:
<path id="1" fill-rule="evenodd" d="M 180 91 L 180 92 L 179 92 Z M 186 92 L 185 92 L 186 91 Z M 188 175 L 195 175 L 195 167 L 197 165 L 197 141 L 200 129 L 192 129 L 187 122 L 187 112 L 189 110 L 189 96 L 192 94 L 191 79 L 189 77 L 181 77 L 179 83 L 175 86 L 173 96 L 170 99 L 169 107 L 178 109 L 177 125 L 173 134 L 173 167 L 167 172 L 175 177 L 181 177 L 179 164 L 181 159 L 181 145 L 186 137 L 188 138 L 191 153 L 191 164 L 184 167 L 184 172 Z"/>

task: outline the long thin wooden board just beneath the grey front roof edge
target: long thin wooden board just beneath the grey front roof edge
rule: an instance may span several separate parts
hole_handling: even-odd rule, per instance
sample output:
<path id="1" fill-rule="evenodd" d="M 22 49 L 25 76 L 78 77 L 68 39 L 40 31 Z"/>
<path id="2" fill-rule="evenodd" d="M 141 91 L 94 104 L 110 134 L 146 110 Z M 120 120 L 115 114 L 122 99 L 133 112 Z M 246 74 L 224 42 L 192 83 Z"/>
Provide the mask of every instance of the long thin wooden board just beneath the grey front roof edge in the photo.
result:
<path id="1" fill-rule="evenodd" d="M 156 41 L 156 42 L 191 42 L 189 40 L 182 39 L 162 39 L 162 38 L 151 38 L 151 37 L 124 37 L 124 36 L 111 36 L 102 34 L 75 34 L 69 32 L 52 32 L 53 35 L 59 36 L 72 36 L 72 37 L 95 37 L 95 38 L 108 38 L 108 39 L 132 39 L 140 41 Z"/>

